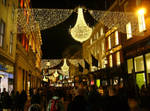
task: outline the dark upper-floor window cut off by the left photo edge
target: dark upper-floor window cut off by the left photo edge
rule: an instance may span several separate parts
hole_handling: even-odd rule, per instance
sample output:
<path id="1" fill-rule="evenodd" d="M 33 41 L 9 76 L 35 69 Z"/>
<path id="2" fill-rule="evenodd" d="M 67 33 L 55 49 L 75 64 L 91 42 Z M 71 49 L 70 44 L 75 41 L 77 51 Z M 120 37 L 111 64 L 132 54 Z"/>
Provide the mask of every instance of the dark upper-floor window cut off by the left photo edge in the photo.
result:
<path id="1" fill-rule="evenodd" d="M 4 35 L 5 35 L 5 23 L 3 20 L 0 20 L 0 47 L 3 47 Z"/>

